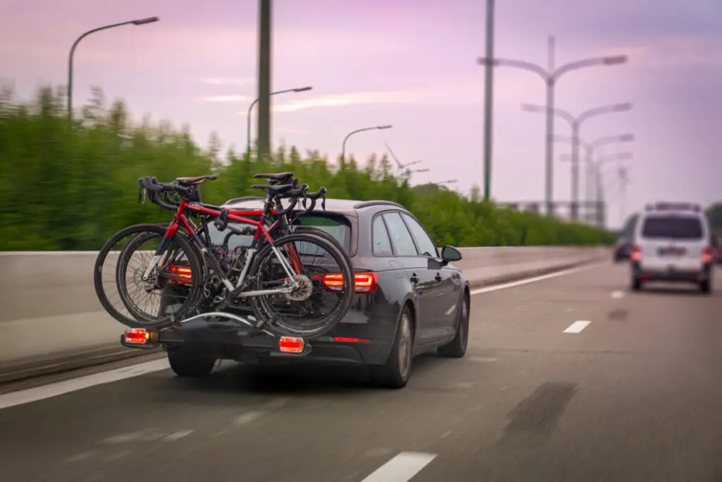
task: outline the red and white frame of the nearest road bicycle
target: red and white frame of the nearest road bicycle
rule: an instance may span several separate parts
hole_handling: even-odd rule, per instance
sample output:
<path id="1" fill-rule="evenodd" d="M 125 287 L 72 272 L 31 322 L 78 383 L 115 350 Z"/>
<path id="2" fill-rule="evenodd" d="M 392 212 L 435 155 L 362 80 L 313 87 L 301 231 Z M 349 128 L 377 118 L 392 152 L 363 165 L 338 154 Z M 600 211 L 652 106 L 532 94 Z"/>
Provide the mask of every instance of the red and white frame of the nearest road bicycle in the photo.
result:
<path id="1" fill-rule="evenodd" d="M 226 275 L 223 274 L 222 267 L 220 266 L 218 260 L 213 257 L 209 256 L 209 251 L 204 242 L 201 240 L 200 236 L 198 236 L 198 233 L 196 232 L 196 229 L 193 228 L 193 223 L 191 223 L 190 220 L 186 217 L 186 210 L 195 212 L 199 215 L 209 215 L 213 217 L 218 217 L 221 215 L 220 210 L 214 210 L 209 207 L 205 207 L 201 204 L 191 203 L 187 202 L 185 199 L 181 200 L 180 205 L 178 205 L 178 210 L 175 212 L 175 217 L 173 218 L 173 221 L 168 225 L 168 229 L 165 231 L 165 235 L 163 236 L 163 240 L 158 246 L 157 251 L 155 252 L 154 256 L 151 259 L 151 262 L 149 263 L 147 269 L 144 272 L 143 279 L 147 280 L 150 276 L 150 273 L 153 269 L 157 266 L 158 262 L 162 258 L 163 253 L 165 253 L 165 250 L 168 249 L 168 246 L 170 245 L 170 242 L 173 240 L 173 236 L 175 236 L 176 233 L 178 233 L 178 229 L 181 228 L 181 225 L 183 225 L 184 228 L 188 231 L 188 234 L 191 236 L 191 240 L 193 243 L 195 243 L 199 249 L 201 250 L 201 253 L 203 254 L 204 258 L 206 258 L 211 264 L 214 270 L 216 270 L 219 273 L 219 278 L 221 282 L 225 285 L 227 290 L 230 292 L 230 296 L 238 297 L 238 298 L 248 298 L 251 296 L 264 296 L 264 295 L 270 295 L 270 294 L 277 294 L 277 293 L 290 293 L 293 291 L 294 288 L 297 288 L 297 281 L 293 279 L 294 272 L 292 270 L 292 267 L 287 263 L 287 261 L 282 257 L 279 249 L 277 246 L 274 245 L 274 239 L 271 238 L 271 235 L 269 231 L 272 231 L 274 227 L 279 223 L 279 220 L 276 220 L 268 229 L 266 229 L 266 219 L 271 215 L 272 210 L 270 209 L 271 204 L 270 202 L 266 202 L 266 207 L 264 207 L 263 211 L 232 211 L 229 212 L 228 220 L 235 221 L 236 223 L 242 223 L 246 225 L 251 225 L 256 227 L 256 232 L 253 235 L 253 242 L 251 246 L 246 250 L 245 252 L 245 263 L 243 265 L 243 270 L 240 273 L 240 276 L 238 277 L 238 281 L 235 285 L 227 278 Z M 248 215 L 261 215 L 261 220 L 255 221 L 249 218 L 246 218 L 245 216 Z M 207 230 L 206 230 L 206 236 L 207 236 Z M 240 292 L 240 289 L 243 287 L 243 282 L 245 281 L 246 276 L 248 275 L 248 269 L 251 265 L 251 261 L 253 260 L 253 257 L 256 255 L 258 251 L 258 243 L 266 241 L 271 245 L 271 251 L 276 255 L 277 259 L 279 259 L 279 262 L 281 263 L 284 271 L 287 275 L 287 282 L 290 282 L 290 285 L 288 283 L 284 283 L 284 286 L 281 288 L 271 289 L 271 290 L 257 290 L 257 291 L 244 291 Z M 300 260 L 299 260 L 300 261 Z M 292 259 L 292 262 L 294 260 Z M 294 266 L 296 270 L 300 269 L 300 266 Z M 300 272 L 300 271 L 296 271 Z"/>

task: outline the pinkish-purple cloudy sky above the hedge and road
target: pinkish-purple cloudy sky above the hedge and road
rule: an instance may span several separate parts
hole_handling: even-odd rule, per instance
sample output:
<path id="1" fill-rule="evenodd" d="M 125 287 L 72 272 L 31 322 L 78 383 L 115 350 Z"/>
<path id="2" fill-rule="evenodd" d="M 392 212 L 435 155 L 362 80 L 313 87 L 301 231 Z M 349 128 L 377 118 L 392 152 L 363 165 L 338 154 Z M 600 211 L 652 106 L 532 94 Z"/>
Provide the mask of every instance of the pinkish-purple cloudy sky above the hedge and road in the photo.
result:
<path id="1" fill-rule="evenodd" d="M 100 8 L 103 5 L 103 8 Z M 572 113 L 609 103 L 634 109 L 591 119 L 583 139 L 632 132 L 627 212 L 657 199 L 708 204 L 722 198 L 718 149 L 722 112 L 722 7 L 715 0 L 497 1 L 497 56 L 557 63 L 627 53 L 630 64 L 567 74 L 557 107 Z M 135 119 L 188 122 L 202 145 L 215 131 L 245 146 L 245 112 L 256 97 L 257 1 L 5 0 L 0 17 L 0 78 L 23 97 L 64 84 L 77 35 L 109 23 L 157 15 L 161 21 L 94 34 L 75 62 L 76 106 L 103 88 L 129 103 Z M 272 89 L 312 85 L 274 98 L 273 142 L 338 155 L 347 132 L 357 157 L 385 152 L 422 159 L 417 182 L 482 185 L 484 1 L 276 0 Z M 500 201 L 544 196 L 544 103 L 539 77 L 497 69 L 492 195 Z M 255 124 L 253 131 L 255 132 Z M 560 134 L 567 124 L 556 121 Z M 557 155 L 569 152 L 557 144 Z M 554 197 L 569 199 L 569 165 L 555 165 Z M 617 194 L 609 165 L 609 194 Z M 188 173 L 179 173 L 187 175 Z M 609 200 L 620 223 L 619 197 Z"/>

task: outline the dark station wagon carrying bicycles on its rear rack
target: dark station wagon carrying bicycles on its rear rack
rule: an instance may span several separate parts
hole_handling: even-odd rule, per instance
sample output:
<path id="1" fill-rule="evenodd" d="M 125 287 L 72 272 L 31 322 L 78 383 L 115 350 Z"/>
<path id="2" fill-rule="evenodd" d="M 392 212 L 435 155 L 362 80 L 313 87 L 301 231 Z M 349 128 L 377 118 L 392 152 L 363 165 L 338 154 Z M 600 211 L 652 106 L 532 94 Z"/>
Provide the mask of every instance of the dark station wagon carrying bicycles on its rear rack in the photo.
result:
<path id="1" fill-rule="evenodd" d="M 262 205 L 262 199 L 240 198 L 224 207 L 261 210 Z M 327 199 L 325 211 L 317 208 L 298 223 L 331 234 L 349 254 L 356 288 L 342 321 L 329 334 L 309 340 L 311 350 L 304 356 L 282 353 L 267 335 L 240 336 L 238 330 L 219 335 L 207 323 L 187 327 L 161 338 L 175 374 L 204 376 L 219 359 L 333 363 L 367 366 L 378 386 L 401 388 L 409 381 L 414 356 L 432 350 L 464 356 L 471 292 L 466 277 L 451 264 L 461 260 L 458 249 L 444 246 L 439 252 L 419 221 L 393 202 Z M 222 243 L 226 232 L 212 224 L 209 229 L 212 242 Z M 251 238 L 232 236 L 230 249 L 248 246 Z"/>

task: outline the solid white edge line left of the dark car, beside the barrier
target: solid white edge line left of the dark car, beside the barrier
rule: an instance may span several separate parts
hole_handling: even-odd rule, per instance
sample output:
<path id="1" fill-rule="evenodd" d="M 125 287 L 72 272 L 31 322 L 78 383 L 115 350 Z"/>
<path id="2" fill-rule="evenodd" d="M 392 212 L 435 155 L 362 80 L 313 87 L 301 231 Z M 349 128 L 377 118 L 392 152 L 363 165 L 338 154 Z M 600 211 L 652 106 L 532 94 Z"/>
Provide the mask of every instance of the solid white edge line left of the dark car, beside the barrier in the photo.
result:
<path id="1" fill-rule="evenodd" d="M 95 385 L 118 382 L 118 380 L 133 378 L 155 371 L 168 369 L 168 360 L 155 360 L 139 363 L 133 366 L 126 366 L 122 369 L 102 371 L 100 373 L 81 376 L 80 378 L 65 380 L 43 387 L 29 388 L 27 390 L 19 390 L 18 392 L 9 392 L 0 395 L 0 409 L 14 407 L 15 405 L 23 405 L 25 403 L 45 400 L 46 398 L 57 397 L 69 392 L 76 392 Z"/>

